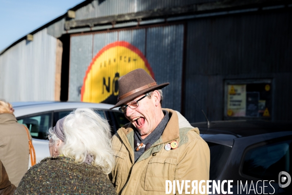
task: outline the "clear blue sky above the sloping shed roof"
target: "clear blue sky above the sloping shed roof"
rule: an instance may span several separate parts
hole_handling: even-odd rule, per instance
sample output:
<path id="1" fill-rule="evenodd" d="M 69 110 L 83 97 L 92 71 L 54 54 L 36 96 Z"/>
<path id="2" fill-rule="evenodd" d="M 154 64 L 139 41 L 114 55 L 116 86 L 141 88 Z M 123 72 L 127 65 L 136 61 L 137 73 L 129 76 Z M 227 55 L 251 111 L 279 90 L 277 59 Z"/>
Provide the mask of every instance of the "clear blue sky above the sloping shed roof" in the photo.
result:
<path id="1" fill-rule="evenodd" d="M 0 0 L 0 51 L 84 0 Z"/>

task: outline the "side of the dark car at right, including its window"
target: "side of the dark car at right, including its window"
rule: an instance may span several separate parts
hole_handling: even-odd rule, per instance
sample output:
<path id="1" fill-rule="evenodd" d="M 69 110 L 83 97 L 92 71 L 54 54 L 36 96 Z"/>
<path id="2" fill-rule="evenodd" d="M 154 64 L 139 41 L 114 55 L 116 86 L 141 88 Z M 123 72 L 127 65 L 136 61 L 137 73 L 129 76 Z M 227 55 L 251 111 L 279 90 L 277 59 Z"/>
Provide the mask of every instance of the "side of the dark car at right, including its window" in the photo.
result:
<path id="1" fill-rule="evenodd" d="M 234 180 L 234 194 L 237 190 L 240 194 L 249 194 L 253 192 L 250 189 L 255 189 L 257 194 L 263 189 L 265 194 L 274 195 L 291 192 L 291 186 L 279 188 L 278 174 L 286 171 L 292 175 L 288 168 L 292 162 L 292 132 L 279 131 L 234 140 L 231 154 L 217 180 Z"/>

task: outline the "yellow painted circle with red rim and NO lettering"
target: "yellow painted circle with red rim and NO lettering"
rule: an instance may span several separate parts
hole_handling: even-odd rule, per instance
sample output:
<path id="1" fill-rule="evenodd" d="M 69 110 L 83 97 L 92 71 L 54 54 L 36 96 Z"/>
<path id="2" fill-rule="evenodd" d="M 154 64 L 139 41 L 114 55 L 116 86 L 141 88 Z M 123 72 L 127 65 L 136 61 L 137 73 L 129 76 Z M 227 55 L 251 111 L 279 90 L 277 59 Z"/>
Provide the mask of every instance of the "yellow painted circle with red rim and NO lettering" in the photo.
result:
<path id="1" fill-rule="evenodd" d="M 126 41 L 108 44 L 96 54 L 86 71 L 81 101 L 115 104 L 118 79 L 137 68 L 144 69 L 154 79 L 147 59 L 138 48 Z"/>

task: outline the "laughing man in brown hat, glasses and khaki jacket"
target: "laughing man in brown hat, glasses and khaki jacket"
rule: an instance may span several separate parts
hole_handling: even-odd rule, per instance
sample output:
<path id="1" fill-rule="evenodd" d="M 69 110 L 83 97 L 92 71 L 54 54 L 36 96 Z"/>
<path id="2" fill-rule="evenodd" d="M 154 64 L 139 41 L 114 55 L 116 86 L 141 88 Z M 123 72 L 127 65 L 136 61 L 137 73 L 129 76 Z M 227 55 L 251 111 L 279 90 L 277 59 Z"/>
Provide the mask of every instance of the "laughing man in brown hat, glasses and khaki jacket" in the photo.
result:
<path id="1" fill-rule="evenodd" d="M 143 69 L 118 82 L 118 102 L 112 108 L 120 107 L 130 123 L 112 137 L 115 167 L 110 179 L 116 192 L 160 195 L 166 180 L 208 180 L 210 152 L 199 129 L 179 112 L 161 107 L 161 89 L 169 83 L 158 85 Z"/>

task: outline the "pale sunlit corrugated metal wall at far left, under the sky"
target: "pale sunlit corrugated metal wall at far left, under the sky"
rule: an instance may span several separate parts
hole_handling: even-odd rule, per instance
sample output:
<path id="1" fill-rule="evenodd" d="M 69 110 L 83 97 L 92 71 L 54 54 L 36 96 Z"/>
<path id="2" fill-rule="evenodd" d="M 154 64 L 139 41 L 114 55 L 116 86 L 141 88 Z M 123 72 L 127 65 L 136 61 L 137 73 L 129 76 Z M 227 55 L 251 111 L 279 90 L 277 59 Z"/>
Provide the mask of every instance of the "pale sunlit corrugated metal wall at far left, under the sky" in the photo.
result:
<path id="1" fill-rule="evenodd" d="M 0 56 L 0 98 L 7 101 L 55 99 L 56 39 L 43 29 Z"/>

